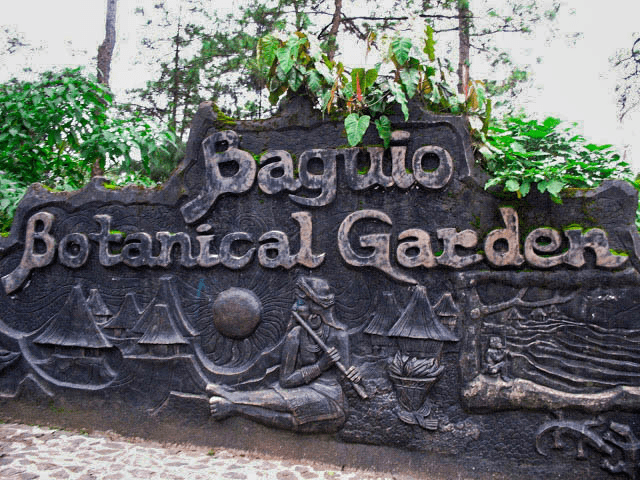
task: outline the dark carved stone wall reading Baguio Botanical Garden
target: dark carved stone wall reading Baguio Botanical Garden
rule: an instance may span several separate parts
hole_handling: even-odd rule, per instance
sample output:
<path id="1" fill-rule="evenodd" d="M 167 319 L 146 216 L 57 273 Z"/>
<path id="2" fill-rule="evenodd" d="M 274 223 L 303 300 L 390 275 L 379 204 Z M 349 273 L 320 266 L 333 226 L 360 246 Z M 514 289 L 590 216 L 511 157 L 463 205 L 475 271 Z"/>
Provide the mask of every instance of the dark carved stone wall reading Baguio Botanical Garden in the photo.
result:
<path id="1" fill-rule="evenodd" d="M 460 118 L 349 148 L 288 109 L 221 128 L 203 105 L 158 189 L 29 190 L 0 243 L 0 415 L 636 478 L 633 187 L 499 198 Z"/>

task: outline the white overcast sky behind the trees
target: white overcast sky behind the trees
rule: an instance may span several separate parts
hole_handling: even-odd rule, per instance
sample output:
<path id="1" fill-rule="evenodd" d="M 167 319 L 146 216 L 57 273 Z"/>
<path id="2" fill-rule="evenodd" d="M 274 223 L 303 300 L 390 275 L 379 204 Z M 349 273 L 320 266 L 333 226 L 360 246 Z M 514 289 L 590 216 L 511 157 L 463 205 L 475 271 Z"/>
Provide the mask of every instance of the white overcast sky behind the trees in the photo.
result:
<path id="1" fill-rule="evenodd" d="M 345 0 L 345 4 L 355 0 Z M 233 0 L 212 0 L 229 9 Z M 120 0 L 118 5 L 117 43 L 111 74 L 116 94 L 127 88 L 143 86 L 144 67 L 133 65 L 136 55 L 135 6 L 148 2 Z M 95 68 L 98 45 L 104 38 L 106 0 L 0 0 L 0 26 L 22 32 L 27 41 L 41 50 L 30 58 L 22 55 L 0 56 L 0 81 L 20 74 L 23 67 L 36 71 L 61 66 L 91 65 Z M 472 2 L 473 6 L 473 2 Z M 513 55 L 537 57 L 535 88 L 519 99 L 528 112 L 540 116 L 557 116 L 577 121 L 588 140 L 613 143 L 626 159 L 640 171 L 640 111 L 629 114 L 624 124 L 616 116 L 615 72 L 609 59 L 618 49 L 629 48 L 634 32 L 640 31 L 639 0 L 566 0 L 558 19 L 562 32 L 582 32 L 575 44 L 562 37 L 547 42 L 542 36 L 530 41 L 514 42 Z M 504 45 L 503 45 L 504 47 Z M 364 56 L 364 52 L 362 52 Z M 473 76 L 474 65 L 472 65 Z M 639 86 L 640 88 L 640 86 Z"/>

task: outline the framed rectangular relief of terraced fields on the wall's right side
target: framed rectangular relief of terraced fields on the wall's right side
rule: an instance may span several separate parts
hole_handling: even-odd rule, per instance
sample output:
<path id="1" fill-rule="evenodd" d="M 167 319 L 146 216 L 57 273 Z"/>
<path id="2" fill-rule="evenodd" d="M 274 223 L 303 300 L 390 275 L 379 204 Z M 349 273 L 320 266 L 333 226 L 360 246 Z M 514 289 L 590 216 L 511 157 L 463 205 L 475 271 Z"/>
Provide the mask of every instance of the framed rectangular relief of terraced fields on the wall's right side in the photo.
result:
<path id="1" fill-rule="evenodd" d="M 623 282 L 620 274 L 610 278 L 616 276 Z M 467 348 L 479 359 L 468 364 L 463 390 L 470 408 L 635 409 L 640 393 L 635 308 L 617 314 L 599 308 L 607 299 L 611 306 L 628 305 L 630 292 L 603 296 L 601 288 L 589 287 L 593 280 L 578 276 L 564 288 L 550 289 L 525 274 L 520 283 L 529 286 L 505 286 L 500 301 L 492 303 L 479 293 L 489 292 L 486 285 L 470 289 L 468 315 L 476 336 Z"/>

